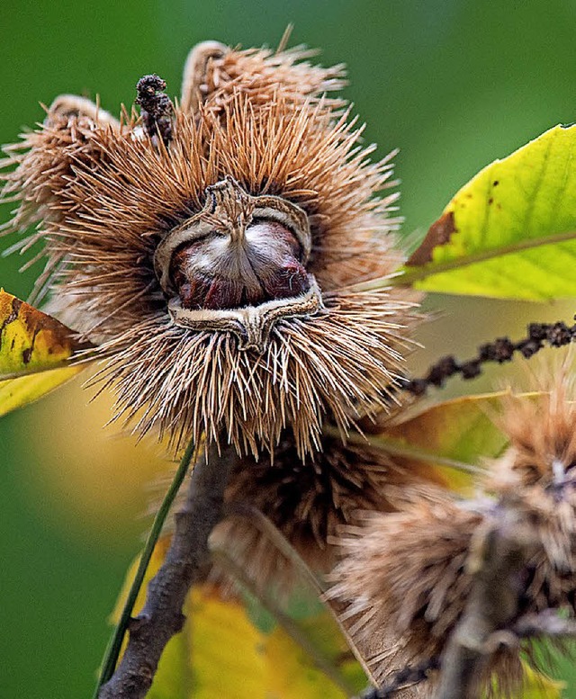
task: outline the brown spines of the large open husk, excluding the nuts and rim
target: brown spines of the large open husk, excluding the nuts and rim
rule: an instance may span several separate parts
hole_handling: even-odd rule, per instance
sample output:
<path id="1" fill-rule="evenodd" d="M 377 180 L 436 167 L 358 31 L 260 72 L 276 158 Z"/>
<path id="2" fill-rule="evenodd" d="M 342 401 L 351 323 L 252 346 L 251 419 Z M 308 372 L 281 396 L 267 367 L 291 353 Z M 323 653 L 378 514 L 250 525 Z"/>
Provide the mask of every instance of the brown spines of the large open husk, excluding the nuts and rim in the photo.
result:
<path id="1" fill-rule="evenodd" d="M 326 413 L 342 428 L 374 414 L 402 372 L 416 296 L 343 289 L 401 264 L 398 220 L 388 216 L 396 195 L 374 196 L 392 184 L 390 157 L 368 162 L 361 130 L 335 111 L 341 103 L 320 97 L 340 69 L 295 58 L 227 49 L 229 80 L 213 78 L 211 59 L 205 77 L 214 85 L 195 111 L 175 107 L 168 146 L 133 116 L 120 123 L 95 106 L 58 103 L 23 152 L 9 149 L 16 169 L 4 174 L 4 191 L 22 201 L 14 227 L 42 222 L 27 243 L 45 244 L 39 289 L 57 286 L 52 308 L 100 345 L 100 380 L 117 392 L 117 416 L 141 433 L 158 428 L 175 444 L 223 433 L 257 453 L 292 424 L 303 454 L 320 446 Z M 227 330 L 175 323 L 154 267 L 160 243 L 226 178 L 248 197 L 295 205 L 311 231 L 305 272 L 321 297 L 275 322 L 257 349 Z"/>

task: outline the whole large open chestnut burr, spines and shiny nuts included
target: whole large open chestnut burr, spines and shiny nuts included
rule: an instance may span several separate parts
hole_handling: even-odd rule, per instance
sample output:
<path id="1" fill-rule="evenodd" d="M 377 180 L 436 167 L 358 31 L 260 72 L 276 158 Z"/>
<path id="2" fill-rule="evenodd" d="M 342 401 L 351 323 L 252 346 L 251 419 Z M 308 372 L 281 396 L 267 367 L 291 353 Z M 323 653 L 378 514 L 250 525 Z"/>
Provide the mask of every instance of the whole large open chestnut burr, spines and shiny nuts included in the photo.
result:
<path id="1" fill-rule="evenodd" d="M 414 292 L 347 291 L 401 264 L 391 157 L 327 92 L 342 67 L 310 52 L 193 49 L 181 106 L 138 84 L 141 118 L 58 98 L 7 149 L 14 229 L 39 224 L 36 291 L 99 345 L 116 415 L 175 445 L 320 447 L 391 400 L 417 320 Z M 159 138 L 158 138 L 159 137 Z M 9 166 L 15 166 L 10 169 Z"/>

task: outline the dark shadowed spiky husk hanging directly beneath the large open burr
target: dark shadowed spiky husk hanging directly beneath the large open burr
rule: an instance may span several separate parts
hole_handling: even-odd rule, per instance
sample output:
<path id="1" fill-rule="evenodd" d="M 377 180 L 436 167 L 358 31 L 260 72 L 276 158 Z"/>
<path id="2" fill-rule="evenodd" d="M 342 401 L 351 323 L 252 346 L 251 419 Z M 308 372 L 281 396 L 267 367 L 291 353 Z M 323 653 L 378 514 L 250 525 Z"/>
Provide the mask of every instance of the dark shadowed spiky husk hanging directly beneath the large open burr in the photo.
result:
<path id="1" fill-rule="evenodd" d="M 302 460 L 292 433 L 284 431 L 273 458 L 245 459 L 230 474 L 226 502 L 266 515 L 312 570 L 326 573 L 336 562 L 331 540 L 340 526 L 358 523 L 365 510 L 394 511 L 392 491 L 424 482 L 432 482 L 428 471 L 335 436 L 323 435 L 320 452 Z M 299 579 L 293 561 L 249 518 L 230 516 L 212 537 L 259 585 L 290 589 Z"/>

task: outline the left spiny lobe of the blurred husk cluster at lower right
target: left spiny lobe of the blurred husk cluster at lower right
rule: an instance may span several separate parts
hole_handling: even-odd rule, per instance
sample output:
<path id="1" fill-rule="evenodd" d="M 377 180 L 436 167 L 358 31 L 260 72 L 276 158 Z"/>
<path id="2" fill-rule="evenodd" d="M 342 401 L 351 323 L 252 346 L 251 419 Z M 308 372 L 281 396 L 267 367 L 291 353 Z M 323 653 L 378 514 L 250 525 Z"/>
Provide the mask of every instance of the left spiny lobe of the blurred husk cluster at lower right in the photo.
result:
<path id="1" fill-rule="evenodd" d="M 347 604 L 359 647 L 371 641 L 366 660 L 379 684 L 443 650 L 470 589 L 464 564 L 481 521 L 449 497 L 421 497 L 408 511 L 366 514 L 346 530 L 330 595 Z"/>

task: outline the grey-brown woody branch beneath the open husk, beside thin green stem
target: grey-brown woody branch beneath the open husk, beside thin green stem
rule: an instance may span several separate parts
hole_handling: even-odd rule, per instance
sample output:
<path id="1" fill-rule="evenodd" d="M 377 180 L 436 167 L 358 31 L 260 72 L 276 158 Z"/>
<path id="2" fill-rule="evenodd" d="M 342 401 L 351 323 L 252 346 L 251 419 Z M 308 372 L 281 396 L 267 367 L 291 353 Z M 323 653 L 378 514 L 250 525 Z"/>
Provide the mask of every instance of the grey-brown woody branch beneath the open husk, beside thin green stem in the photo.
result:
<path id="1" fill-rule="evenodd" d="M 148 584 L 144 609 L 130 620 L 121 662 L 99 699 L 143 699 L 152 685 L 166 643 L 182 630 L 182 607 L 193 582 L 209 561 L 208 537 L 220 521 L 233 447 L 219 454 L 212 446 L 195 463 L 184 506 L 175 515 L 175 533 L 166 560 Z"/>

